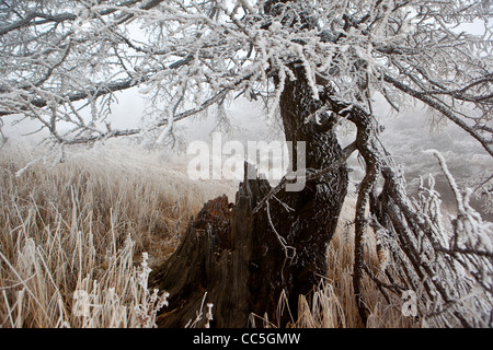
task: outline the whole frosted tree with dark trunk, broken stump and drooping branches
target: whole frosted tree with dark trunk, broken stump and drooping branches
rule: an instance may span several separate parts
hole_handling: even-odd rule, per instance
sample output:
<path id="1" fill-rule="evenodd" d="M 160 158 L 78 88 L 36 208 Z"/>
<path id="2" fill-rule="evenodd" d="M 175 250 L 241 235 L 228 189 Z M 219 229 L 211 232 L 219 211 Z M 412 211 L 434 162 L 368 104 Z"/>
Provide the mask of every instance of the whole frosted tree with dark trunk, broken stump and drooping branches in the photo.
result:
<path id="1" fill-rule="evenodd" d="M 165 140 L 174 122 L 220 106 L 230 95 L 268 97 L 278 107 L 286 140 L 307 142 L 306 188 L 286 191 L 287 178 L 275 188 L 245 180 L 234 208 L 220 199 L 206 206 L 181 247 L 199 266 L 222 264 L 217 266 L 225 275 L 206 273 L 215 283 L 218 276 L 222 283 L 233 276 L 236 287 L 228 289 L 233 292 L 242 283 L 238 296 L 248 296 L 243 312 L 264 310 L 276 317 L 275 298 L 282 291 L 295 305 L 297 295 L 308 293 L 323 273 L 325 245 L 346 196 L 345 163 L 357 151 L 365 165 L 354 222 L 354 289 L 362 319 L 367 311 L 360 281 L 368 273 L 385 294 L 424 285 L 421 299 L 436 306 L 435 325 L 491 326 L 488 229 L 456 191 L 456 230 L 451 240 L 438 238 L 445 233 L 436 192 L 423 188 L 428 197 L 408 198 L 379 141 L 382 127 L 372 109 L 377 94 L 395 109 L 406 98 L 420 101 L 493 155 L 490 1 L 3 0 L 0 18 L 0 116 L 39 120 L 60 156 L 71 144 L 117 137 L 152 133 Z M 460 32 L 462 22 L 482 24 L 484 34 Z M 114 130 L 107 115 L 115 93 L 134 86 L 150 95 L 151 121 L 146 128 Z M 357 129 L 345 149 L 336 137 L 342 122 Z M 59 125 L 66 124 L 71 128 L 62 131 Z M 232 228 L 240 222 L 251 235 L 250 252 L 233 248 L 231 240 L 239 238 Z M 392 261 L 382 278 L 364 260 L 369 225 Z M 197 230 L 206 229 L 211 250 L 192 242 Z M 262 248 L 273 254 L 264 257 Z M 211 259 L 213 254 L 222 262 Z M 227 254 L 241 257 L 234 265 L 241 273 L 233 273 Z M 177 268 L 168 273 L 169 268 L 154 273 L 160 287 L 170 288 L 167 283 L 183 275 Z M 181 280 L 180 287 L 215 290 L 210 281 L 197 280 L 200 271 L 190 271 L 195 280 Z M 478 312 L 465 316 L 459 306 L 474 285 L 485 296 L 471 296 Z M 183 293 L 190 301 L 193 293 Z M 174 305 L 187 300 L 183 293 Z M 195 295 L 188 305 L 199 302 Z M 233 324 L 231 301 L 222 295 L 215 303 L 230 313 L 221 325 Z"/>

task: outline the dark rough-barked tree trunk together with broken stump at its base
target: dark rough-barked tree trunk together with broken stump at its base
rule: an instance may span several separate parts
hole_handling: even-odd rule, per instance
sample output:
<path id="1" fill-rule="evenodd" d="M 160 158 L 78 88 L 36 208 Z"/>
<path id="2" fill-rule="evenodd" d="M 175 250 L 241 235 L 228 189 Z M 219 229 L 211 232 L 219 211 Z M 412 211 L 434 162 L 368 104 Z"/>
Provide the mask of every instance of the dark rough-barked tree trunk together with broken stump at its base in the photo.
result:
<path id="1" fill-rule="evenodd" d="M 320 102 L 311 97 L 303 68 L 294 65 L 293 71 L 297 80 L 286 82 L 280 98 L 286 140 L 307 142 L 307 168 L 325 168 L 342 150 L 331 126 L 307 122 Z M 245 175 L 252 172 L 245 165 Z M 290 316 L 277 313 L 282 293 L 296 318 L 299 294 L 326 275 L 326 248 L 347 189 L 345 165 L 307 180 L 301 191 L 279 191 L 256 212 L 272 188 L 254 177 L 245 176 L 234 205 L 226 196 L 207 202 L 181 246 L 151 273 L 150 284 L 171 294 L 158 326 L 183 327 L 200 308 L 205 314 L 206 303 L 214 304 L 214 327 L 246 327 L 251 313 L 285 326 Z"/>

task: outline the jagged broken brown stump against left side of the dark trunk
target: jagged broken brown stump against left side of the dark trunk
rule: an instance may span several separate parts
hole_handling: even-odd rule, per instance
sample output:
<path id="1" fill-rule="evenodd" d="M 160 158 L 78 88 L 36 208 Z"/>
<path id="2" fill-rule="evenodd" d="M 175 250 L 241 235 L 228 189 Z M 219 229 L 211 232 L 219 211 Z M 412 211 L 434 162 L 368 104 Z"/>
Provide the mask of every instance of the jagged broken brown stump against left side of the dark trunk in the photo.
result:
<path id="1" fill-rule="evenodd" d="M 266 180 L 248 179 L 240 185 L 234 206 L 227 196 L 218 197 L 191 221 L 180 247 L 150 276 L 151 284 L 170 293 L 170 306 L 157 319 L 159 327 L 194 322 L 196 312 L 206 310 L 206 292 L 205 302 L 214 304 L 213 326 L 248 326 L 253 311 L 250 295 L 259 289 L 254 277 L 261 270 L 255 256 L 267 234 L 260 223 L 265 215 L 252 211 L 270 189 Z"/>

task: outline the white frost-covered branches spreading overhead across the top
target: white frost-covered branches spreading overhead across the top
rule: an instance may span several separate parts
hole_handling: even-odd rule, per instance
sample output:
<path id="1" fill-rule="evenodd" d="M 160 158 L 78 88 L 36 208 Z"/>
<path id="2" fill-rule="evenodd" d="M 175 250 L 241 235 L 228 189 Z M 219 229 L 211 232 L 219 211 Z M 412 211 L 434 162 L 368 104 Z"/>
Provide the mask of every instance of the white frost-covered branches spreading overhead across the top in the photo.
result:
<path id="1" fill-rule="evenodd" d="M 395 108 L 411 95 L 492 153 L 489 16 L 485 0 L 3 1 L 0 115 L 37 119 L 58 147 L 163 141 L 229 93 L 277 104 L 296 63 L 316 100 L 329 90 L 370 113 L 376 92 Z M 472 22 L 482 35 L 456 28 Z M 134 86 L 150 116 L 115 130 L 115 93 Z"/>

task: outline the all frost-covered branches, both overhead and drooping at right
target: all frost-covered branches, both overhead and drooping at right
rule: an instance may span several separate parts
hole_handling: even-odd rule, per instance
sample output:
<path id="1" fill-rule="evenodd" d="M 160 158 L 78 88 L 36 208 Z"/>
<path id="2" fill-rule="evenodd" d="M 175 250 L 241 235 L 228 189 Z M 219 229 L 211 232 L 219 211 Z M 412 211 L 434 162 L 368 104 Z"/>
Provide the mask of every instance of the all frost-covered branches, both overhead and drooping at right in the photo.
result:
<path id="1" fill-rule="evenodd" d="M 358 151 L 365 175 L 355 209 L 353 287 L 362 320 L 367 273 L 383 293 L 419 292 L 428 325 L 491 327 L 491 228 L 469 205 L 478 189 L 462 194 L 435 153 L 457 200 L 454 229 L 446 228 L 433 179 L 411 201 L 379 142 L 372 102 L 379 94 L 399 109 L 417 101 L 493 156 L 492 12 L 489 0 L 0 1 L 0 127 L 5 116 L 37 120 L 48 131 L 49 154 L 61 161 L 72 144 L 173 140 L 177 121 L 240 95 L 266 101 L 267 118 L 286 106 L 286 95 L 300 95 L 307 109 L 293 115 L 306 120 L 288 120 L 293 125 L 323 133 L 348 121 L 357 129 L 341 158 L 311 170 L 309 179 Z M 462 31 L 465 23 L 480 33 Z M 139 127 L 115 129 L 116 93 L 131 88 L 151 107 L 136 116 L 144 117 Z M 294 91 L 284 94 L 288 88 Z M 485 175 L 481 187 L 490 185 Z M 364 261 L 370 221 L 383 249 L 385 281 Z M 147 298 L 154 305 L 156 295 Z"/>

